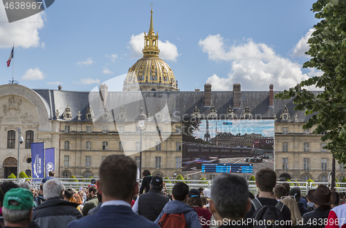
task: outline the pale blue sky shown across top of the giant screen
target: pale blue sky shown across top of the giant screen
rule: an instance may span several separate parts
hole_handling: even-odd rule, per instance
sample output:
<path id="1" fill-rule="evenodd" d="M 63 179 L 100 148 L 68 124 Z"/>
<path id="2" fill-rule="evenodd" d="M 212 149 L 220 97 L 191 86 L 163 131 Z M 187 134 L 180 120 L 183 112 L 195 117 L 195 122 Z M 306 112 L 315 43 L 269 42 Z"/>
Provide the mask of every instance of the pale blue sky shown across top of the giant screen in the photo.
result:
<path id="1" fill-rule="evenodd" d="M 225 125 L 224 122 L 232 122 L 232 124 Z M 217 132 L 228 132 L 233 135 L 256 133 L 265 137 L 274 137 L 274 120 L 209 120 L 208 125 L 211 137 L 215 137 Z M 203 139 L 205 133 L 206 120 L 201 120 L 199 131 L 195 132 L 194 136 Z"/>

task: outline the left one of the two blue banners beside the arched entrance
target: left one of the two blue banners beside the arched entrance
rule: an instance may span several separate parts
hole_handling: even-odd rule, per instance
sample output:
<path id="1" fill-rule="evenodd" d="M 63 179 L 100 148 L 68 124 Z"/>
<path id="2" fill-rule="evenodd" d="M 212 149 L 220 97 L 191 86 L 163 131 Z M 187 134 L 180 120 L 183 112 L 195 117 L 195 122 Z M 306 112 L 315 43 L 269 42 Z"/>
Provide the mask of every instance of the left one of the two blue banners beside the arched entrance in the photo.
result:
<path id="1" fill-rule="evenodd" d="M 44 143 L 31 144 L 31 166 L 33 178 L 44 178 Z"/>

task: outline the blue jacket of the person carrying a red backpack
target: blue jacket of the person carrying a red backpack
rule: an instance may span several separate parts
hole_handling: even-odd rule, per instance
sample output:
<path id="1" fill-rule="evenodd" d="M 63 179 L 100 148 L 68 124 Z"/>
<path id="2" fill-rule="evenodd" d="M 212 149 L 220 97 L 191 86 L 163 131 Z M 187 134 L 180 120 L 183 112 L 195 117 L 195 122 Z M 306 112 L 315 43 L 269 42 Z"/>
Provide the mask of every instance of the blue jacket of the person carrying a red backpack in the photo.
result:
<path id="1" fill-rule="evenodd" d="M 167 202 L 163 210 L 161 211 L 158 218 L 156 218 L 155 222 L 158 224 L 158 221 L 163 216 L 163 213 L 184 213 L 186 223 L 188 224 L 188 228 L 201 228 L 201 223 L 199 222 L 198 214 L 192 207 L 185 204 L 185 202 L 181 202 L 179 200 L 172 200 Z"/>

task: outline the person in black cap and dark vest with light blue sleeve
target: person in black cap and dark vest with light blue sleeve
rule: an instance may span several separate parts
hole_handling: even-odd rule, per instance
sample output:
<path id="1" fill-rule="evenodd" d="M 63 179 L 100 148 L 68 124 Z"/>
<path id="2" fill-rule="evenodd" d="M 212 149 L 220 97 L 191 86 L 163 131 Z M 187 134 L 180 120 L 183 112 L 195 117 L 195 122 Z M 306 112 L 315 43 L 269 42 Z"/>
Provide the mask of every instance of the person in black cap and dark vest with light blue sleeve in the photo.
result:
<path id="1" fill-rule="evenodd" d="M 138 196 L 132 211 L 154 222 L 170 198 L 161 193 L 163 188 L 161 177 L 152 177 L 149 186 L 150 189 L 147 193 Z"/>

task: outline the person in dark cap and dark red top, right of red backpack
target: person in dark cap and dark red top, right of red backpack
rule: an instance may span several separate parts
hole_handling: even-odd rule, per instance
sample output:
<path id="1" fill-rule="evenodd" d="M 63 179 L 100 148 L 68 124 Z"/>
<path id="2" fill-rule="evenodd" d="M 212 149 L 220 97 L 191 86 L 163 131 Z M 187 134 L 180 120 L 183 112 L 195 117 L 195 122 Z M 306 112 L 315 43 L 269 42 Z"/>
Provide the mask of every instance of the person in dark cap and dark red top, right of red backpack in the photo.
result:
<path id="1" fill-rule="evenodd" d="M 203 208 L 202 200 L 201 200 L 201 193 L 197 189 L 191 189 L 188 194 L 188 202 L 186 202 L 187 205 L 192 207 L 194 211 L 197 212 L 199 216 L 199 222 L 201 222 L 201 225 L 203 228 L 209 228 L 210 225 L 207 224 L 207 221 L 209 222 L 212 218 L 212 213 L 206 208 Z"/>

